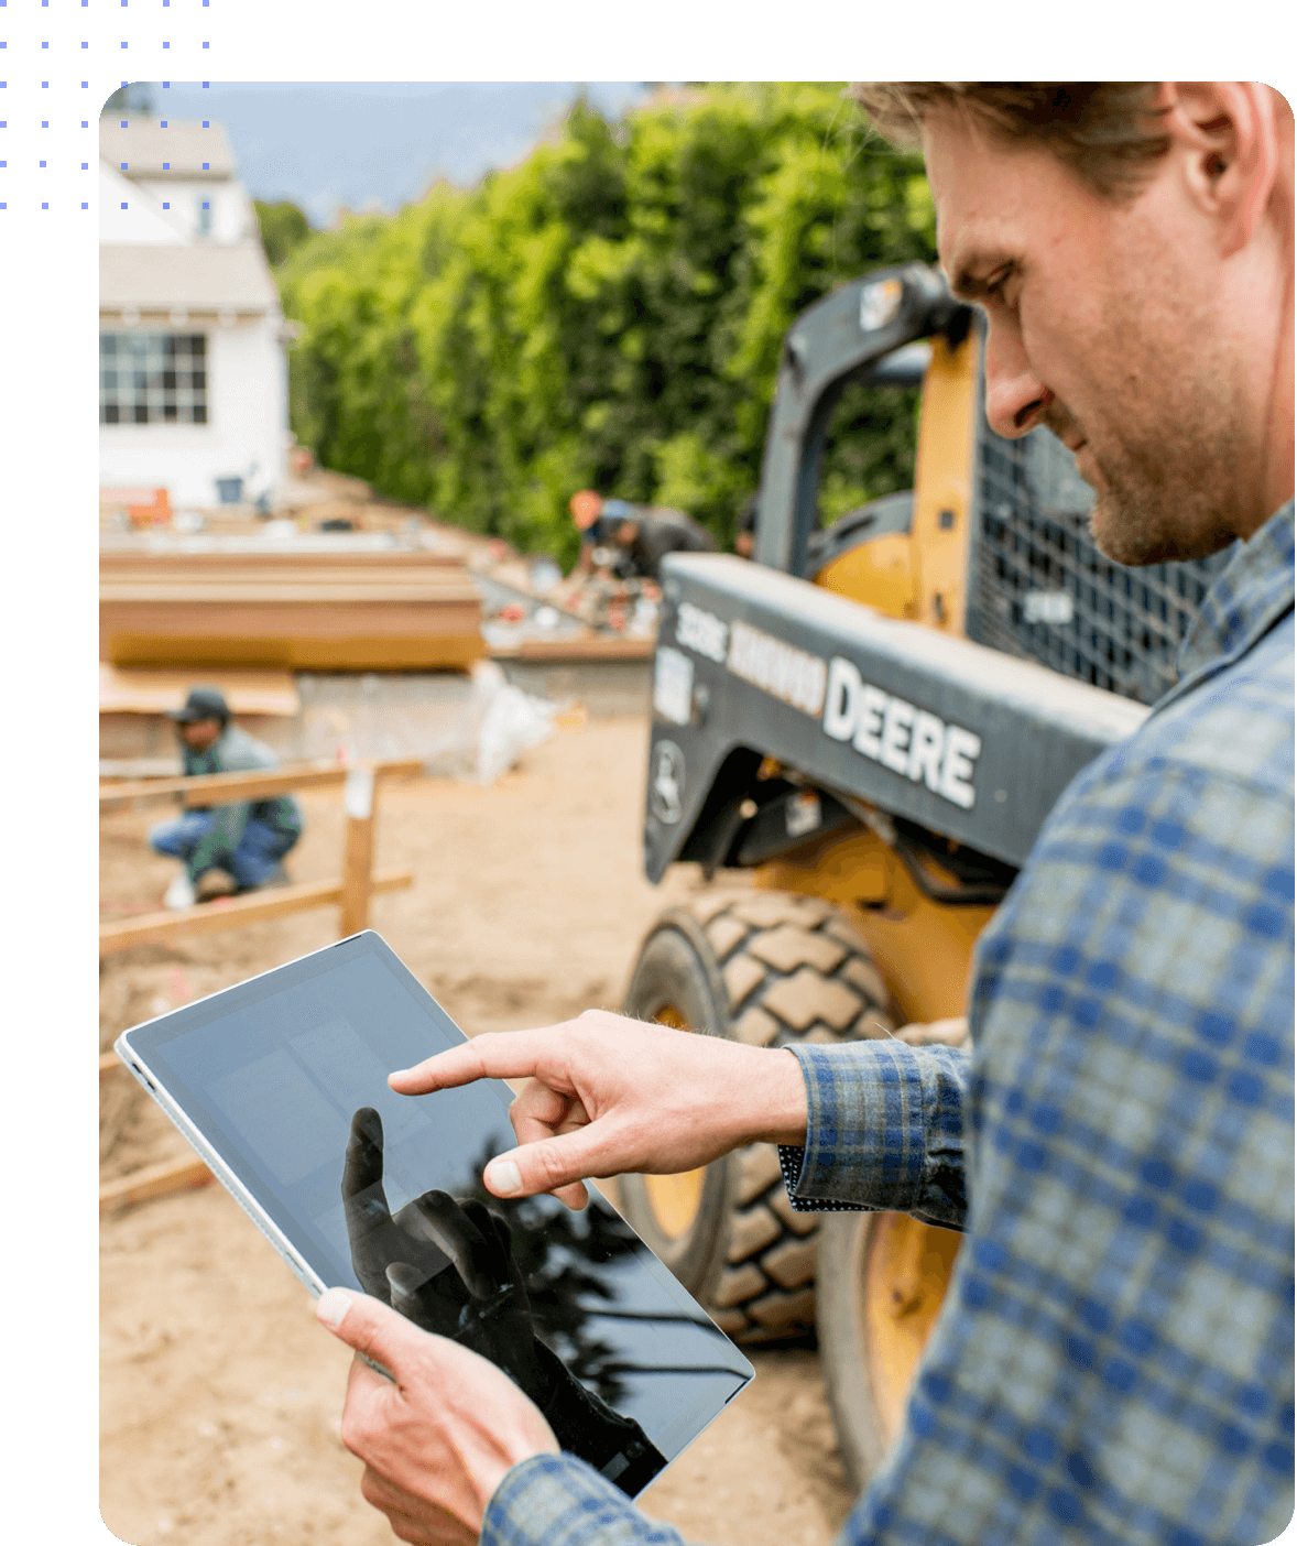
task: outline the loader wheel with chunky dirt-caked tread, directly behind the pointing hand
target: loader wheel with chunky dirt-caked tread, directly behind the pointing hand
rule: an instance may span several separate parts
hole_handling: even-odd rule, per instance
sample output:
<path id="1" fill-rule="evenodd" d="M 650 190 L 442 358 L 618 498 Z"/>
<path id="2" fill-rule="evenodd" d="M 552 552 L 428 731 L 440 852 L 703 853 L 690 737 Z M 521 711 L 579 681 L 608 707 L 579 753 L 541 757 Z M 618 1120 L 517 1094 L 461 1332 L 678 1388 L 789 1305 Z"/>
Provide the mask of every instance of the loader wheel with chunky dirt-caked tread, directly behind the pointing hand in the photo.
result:
<path id="1" fill-rule="evenodd" d="M 754 1047 L 886 1036 L 887 988 L 850 923 L 785 892 L 705 897 L 663 914 L 625 1013 Z M 819 1214 L 788 1203 L 774 1144 L 683 1175 L 625 1175 L 628 1221 L 736 1342 L 815 1328 Z"/>

